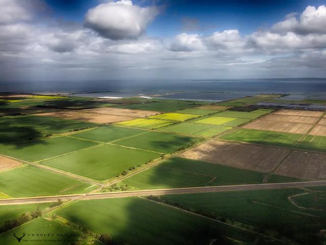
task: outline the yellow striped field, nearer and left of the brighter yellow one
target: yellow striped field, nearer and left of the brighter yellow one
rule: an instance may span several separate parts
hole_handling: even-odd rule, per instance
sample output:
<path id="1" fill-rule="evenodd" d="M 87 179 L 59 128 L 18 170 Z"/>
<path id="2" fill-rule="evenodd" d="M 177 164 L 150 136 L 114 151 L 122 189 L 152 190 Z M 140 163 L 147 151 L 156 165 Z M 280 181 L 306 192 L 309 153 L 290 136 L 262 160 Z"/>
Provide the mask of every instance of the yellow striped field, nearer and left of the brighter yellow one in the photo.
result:
<path id="1" fill-rule="evenodd" d="M 157 129 L 160 127 L 165 127 L 173 124 L 173 122 L 166 120 L 158 120 L 158 119 L 133 119 L 130 121 L 119 122 L 117 125 L 126 126 L 126 127 L 137 127 L 137 128 L 145 128 L 145 129 Z"/>

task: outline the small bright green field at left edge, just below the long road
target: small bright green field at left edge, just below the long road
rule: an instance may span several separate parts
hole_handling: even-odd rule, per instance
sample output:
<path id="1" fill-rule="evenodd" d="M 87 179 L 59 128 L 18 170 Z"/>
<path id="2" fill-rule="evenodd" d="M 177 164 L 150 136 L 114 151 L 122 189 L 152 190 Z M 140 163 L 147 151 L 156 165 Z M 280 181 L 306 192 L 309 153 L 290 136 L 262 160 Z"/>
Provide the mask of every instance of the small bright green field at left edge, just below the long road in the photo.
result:
<path id="1" fill-rule="evenodd" d="M 0 226 L 2 226 L 6 221 L 17 219 L 22 213 L 33 212 L 38 207 L 45 209 L 49 207 L 50 204 L 51 203 L 0 205 Z"/>

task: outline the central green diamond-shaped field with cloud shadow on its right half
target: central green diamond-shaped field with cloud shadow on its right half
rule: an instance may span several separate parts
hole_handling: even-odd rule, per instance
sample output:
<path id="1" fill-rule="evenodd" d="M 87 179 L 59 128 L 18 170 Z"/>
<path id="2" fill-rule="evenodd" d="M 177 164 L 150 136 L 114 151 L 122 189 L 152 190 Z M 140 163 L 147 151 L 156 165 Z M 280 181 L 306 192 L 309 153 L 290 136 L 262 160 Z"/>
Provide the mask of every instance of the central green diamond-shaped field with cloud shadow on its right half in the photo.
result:
<path id="1" fill-rule="evenodd" d="M 149 131 L 131 138 L 116 141 L 114 144 L 167 154 L 201 140 L 202 138 Z"/>

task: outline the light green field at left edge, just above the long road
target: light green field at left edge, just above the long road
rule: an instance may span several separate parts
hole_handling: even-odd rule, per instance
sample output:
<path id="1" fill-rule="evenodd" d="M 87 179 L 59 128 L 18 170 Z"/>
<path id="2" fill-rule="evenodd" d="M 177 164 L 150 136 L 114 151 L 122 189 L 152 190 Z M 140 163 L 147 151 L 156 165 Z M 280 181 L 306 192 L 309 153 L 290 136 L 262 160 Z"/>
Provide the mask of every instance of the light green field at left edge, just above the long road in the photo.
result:
<path id="1" fill-rule="evenodd" d="M 28 166 L 0 173 L 0 191 L 11 197 L 85 193 L 91 184 L 65 175 Z"/>

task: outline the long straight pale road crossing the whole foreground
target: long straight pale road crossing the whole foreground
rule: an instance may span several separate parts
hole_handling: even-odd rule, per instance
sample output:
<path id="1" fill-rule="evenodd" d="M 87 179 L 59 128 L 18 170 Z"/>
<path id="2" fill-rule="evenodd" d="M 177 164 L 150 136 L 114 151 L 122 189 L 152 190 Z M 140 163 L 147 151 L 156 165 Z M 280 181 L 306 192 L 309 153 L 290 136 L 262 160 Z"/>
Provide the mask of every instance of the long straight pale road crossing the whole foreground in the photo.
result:
<path id="1" fill-rule="evenodd" d="M 3 199 L 0 200 L 0 205 L 55 202 L 58 199 L 90 200 L 90 199 L 121 198 L 121 197 L 133 197 L 133 196 L 150 196 L 150 195 L 159 196 L 159 195 L 170 195 L 170 194 L 229 192 L 232 190 L 278 189 L 278 188 L 295 188 L 295 187 L 307 187 L 307 186 L 326 186 L 326 180 L 289 182 L 289 183 L 271 183 L 271 184 L 205 186 L 205 187 L 156 189 L 156 190 L 150 189 L 150 190 L 135 190 L 132 192 L 113 192 L 113 193 L 97 193 L 97 194 L 84 194 L 84 195 L 80 194 L 80 195 L 63 195 L 63 196 L 52 196 L 52 197 Z"/>

